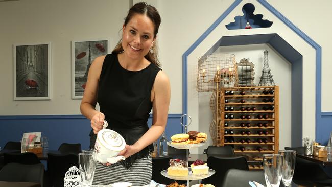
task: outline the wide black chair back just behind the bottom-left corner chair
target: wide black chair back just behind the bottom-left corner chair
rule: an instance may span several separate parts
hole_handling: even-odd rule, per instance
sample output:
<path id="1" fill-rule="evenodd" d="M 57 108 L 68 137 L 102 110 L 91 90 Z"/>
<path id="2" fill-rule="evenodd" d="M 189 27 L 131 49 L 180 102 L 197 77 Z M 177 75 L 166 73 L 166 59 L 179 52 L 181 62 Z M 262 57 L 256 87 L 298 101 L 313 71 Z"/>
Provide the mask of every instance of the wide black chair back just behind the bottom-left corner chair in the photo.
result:
<path id="1" fill-rule="evenodd" d="M 22 163 L 26 165 L 35 165 L 40 163 L 38 157 L 31 152 L 27 153 L 4 153 L 4 162 L 7 163 Z"/>

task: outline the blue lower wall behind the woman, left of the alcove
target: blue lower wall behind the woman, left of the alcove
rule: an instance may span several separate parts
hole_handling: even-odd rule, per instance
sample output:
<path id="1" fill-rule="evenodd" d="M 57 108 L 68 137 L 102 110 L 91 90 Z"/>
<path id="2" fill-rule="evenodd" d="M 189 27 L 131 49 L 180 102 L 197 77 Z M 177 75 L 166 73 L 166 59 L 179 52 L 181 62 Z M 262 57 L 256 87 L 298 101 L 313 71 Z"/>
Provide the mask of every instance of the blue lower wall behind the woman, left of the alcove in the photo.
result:
<path id="1" fill-rule="evenodd" d="M 181 114 L 169 114 L 165 133 L 170 136 L 182 132 Z M 151 126 L 152 118 L 148 124 Z M 57 150 L 62 143 L 80 143 L 89 147 L 90 121 L 83 115 L 0 116 L 0 147 L 8 141 L 18 142 L 25 132 L 42 132 L 49 139 L 49 149 Z"/>

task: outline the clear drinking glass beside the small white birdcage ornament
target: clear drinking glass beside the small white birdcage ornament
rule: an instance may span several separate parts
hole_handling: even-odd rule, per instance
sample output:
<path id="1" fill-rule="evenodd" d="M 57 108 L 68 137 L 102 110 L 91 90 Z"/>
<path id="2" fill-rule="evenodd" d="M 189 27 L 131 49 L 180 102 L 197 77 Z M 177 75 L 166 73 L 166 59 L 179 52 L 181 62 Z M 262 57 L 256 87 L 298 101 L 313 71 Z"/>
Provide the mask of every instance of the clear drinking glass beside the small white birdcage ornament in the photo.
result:
<path id="1" fill-rule="evenodd" d="M 83 186 L 91 186 L 96 171 L 96 154 L 84 152 L 78 154 L 80 175 Z"/>

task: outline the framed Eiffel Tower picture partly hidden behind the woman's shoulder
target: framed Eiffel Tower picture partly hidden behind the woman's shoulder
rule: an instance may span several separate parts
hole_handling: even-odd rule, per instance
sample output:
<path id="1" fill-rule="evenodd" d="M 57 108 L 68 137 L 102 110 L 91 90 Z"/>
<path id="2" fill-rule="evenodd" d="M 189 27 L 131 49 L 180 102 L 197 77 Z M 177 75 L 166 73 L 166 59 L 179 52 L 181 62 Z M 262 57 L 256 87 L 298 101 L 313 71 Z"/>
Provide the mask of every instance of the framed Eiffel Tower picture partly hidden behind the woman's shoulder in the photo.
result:
<path id="1" fill-rule="evenodd" d="M 82 99 L 93 60 L 110 53 L 110 40 L 72 41 L 72 98 Z"/>

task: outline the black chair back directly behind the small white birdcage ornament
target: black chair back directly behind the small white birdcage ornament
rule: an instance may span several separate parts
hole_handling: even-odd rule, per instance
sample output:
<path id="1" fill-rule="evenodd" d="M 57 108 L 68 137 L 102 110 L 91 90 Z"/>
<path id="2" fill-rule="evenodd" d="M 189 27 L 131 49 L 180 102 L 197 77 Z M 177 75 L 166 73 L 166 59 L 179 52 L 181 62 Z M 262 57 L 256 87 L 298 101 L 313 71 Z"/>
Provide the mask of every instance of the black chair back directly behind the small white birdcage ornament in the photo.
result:
<path id="1" fill-rule="evenodd" d="M 59 155 L 48 153 L 48 179 L 54 187 L 63 187 L 63 178 L 70 167 L 78 168 L 78 156 L 75 154 Z"/>

